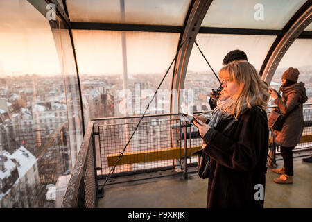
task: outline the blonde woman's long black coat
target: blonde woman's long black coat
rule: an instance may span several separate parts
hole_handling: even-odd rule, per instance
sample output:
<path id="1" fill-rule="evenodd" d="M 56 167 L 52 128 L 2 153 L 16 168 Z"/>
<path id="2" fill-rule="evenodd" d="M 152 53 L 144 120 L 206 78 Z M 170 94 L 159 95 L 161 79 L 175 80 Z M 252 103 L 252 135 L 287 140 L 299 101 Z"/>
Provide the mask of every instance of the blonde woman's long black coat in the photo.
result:
<path id="1" fill-rule="evenodd" d="M 255 185 L 262 185 L 263 192 L 266 185 L 267 115 L 252 107 L 238 119 L 220 133 L 232 121 L 223 119 L 203 137 L 203 151 L 211 157 L 207 207 L 263 207 L 254 194 L 259 191 Z"/>

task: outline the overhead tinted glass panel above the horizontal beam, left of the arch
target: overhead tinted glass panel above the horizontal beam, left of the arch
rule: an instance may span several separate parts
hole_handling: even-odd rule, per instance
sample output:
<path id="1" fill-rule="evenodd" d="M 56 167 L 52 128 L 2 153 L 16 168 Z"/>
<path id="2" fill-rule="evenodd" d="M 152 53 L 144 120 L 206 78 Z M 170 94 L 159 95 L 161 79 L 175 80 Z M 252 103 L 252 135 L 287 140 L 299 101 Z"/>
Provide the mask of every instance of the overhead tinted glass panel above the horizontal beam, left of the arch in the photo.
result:
<path id="1" fill-rule="evenodd" d="M 124 2 L 124 17 L 121 13 Z M 190 0 L 68 0 L 72 22 L 107 22 L 182 26 Z"/>

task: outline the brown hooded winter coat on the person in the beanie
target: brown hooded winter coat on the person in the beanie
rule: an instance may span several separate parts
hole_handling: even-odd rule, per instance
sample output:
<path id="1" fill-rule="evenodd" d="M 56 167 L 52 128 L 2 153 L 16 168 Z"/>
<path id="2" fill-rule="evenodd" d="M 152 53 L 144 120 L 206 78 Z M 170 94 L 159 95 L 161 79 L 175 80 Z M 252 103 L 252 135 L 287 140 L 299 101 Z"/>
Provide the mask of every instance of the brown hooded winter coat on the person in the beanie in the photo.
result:
<path id="1" fill-rule="evenodd" d="M 274 103 L 279 107 L 282 113 L 292 112 L 285 119 L 281 132 L 274 132 L 275 143 L 279 146 L 291 147 L 300 142 L 303 132 L 303 108 L 302 104 L 306 102 L 306 89 L 304 83 L 295 83 L 288 87 L 281 87 L 282 97 L 277 97 Z M 296 106 L 297 104 L 299 106 Z"/>

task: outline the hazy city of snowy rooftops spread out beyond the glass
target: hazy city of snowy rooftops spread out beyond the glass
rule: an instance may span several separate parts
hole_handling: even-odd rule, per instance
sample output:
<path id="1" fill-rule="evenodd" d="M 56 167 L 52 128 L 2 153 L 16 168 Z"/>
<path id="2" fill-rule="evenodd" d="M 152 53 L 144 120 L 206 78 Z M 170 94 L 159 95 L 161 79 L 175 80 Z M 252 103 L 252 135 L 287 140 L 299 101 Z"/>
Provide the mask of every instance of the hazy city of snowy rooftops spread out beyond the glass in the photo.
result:
<path id="1" fill-rule="evenodd" d="M 306 94 L 312 102 L 312 67 L 299 67 L 300 79 L 306 84 Z M 278 69 L 271 87 L 279 89 L 281 74 Z M 135 94 L 135 89 L 154 92 L 162 74 L 137 74 L 128 78 L 128 90 L 133 108 L 128 115 L 144 112 L 144 105 L 136 112 L 135 101 L 149 101 L 153 94 Z M 92 118 L 122 117 L 122 76 L 92 76 L 80 74 L 83 105 L 80 106 L 76 76 L 1 75 L 0 78 L 0 206 L 49 207 L 46 186 L 66 182 L 75 156 L 83 139 L 81 107 L 87 121 Z M 218 87 L 212 73 L 188 71 L 184 89 L 193 90 L 193 111 L 210 110 L 209 92 Z M 166 79 L 161 89 L 171 89 Z M 158 105 L 157 105 L 158 103 Z M 159 105 L 161 103 L 161 105 Z M 146 104 L 146 103 L 144 103 Z M 168 112 L 170 94 L 155 99 L 149 114 Z M 147 105 L 147 104 L 146 104 Z M 272 101 L 268 105 L 274 105 Z M 62 180 L 60 179 L 62 178 Z M 14 195 L 12 194 L 14 190 Z M 62 191 L 64 194 L 64 190 Z M 32 195 L 29 195 L 32 194 Z M 40 196 L 41 198 L 37 198 Z M 35 197 L 35 198 L 34 198 Z"/>

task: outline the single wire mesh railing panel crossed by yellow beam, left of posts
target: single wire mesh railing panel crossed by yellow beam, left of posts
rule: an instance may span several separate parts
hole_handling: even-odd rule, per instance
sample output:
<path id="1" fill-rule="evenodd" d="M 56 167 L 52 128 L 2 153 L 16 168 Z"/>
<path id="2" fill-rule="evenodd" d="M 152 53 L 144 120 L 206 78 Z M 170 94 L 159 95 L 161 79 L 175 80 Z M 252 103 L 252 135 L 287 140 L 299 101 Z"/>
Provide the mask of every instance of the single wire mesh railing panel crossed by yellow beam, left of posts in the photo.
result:
<path id="1" fill-rule="evenodd" d="M 114 171 L 115 175 L 126 172 L 147 172 L 151 169 L 173 169 L 177 162 L 172 158 L 180 153 L 180 119 L 170 119 L 170 115 L 146 117 L 132 137 L 130 144 Z M 127 119 L 125 119 L 127 120 Z M 137 126 L 138 119 L 125 123 L 98 125 L 101 170 L 98 175 L 105 176 L 116 163 L 119 153 Z M 173 151 L 173 152 L 170 152 Z"/>

